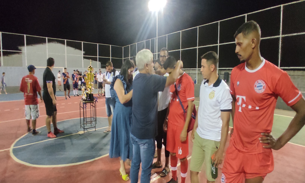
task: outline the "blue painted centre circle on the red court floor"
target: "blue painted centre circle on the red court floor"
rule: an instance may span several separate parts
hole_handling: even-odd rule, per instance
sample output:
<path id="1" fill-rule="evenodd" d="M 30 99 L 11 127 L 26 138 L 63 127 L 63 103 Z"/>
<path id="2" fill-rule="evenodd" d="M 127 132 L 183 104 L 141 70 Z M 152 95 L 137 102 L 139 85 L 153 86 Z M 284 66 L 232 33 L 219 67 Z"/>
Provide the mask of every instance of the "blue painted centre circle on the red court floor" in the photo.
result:
<path id="1" fill-rule="evenodd" d="M 48 138 L 45 126 L 37 129 L 41 133 L 36 136 L 23 136 L 13 145 L 13 156 L 23 164 L 56 166 L 93 160 L 109 153 L 111 134 L 103 132 L 108 127 L 107 118 L 98 117 L 96 131 L 91 128 L 85 133 L 79 118 L 58 122 L 57 127 L 65 131 L 57 138 Z"/>

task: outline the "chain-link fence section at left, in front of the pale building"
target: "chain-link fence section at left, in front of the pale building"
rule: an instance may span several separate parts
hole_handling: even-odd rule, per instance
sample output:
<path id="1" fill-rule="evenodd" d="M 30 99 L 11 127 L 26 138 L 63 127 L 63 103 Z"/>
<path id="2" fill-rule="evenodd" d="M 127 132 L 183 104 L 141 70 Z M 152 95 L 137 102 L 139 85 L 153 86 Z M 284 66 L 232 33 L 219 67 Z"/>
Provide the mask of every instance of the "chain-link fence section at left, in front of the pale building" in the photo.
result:
<path id="1" fill-rule="evenodd" d="M 48 57 L 55 59 L 58 68 L 87 68 L 92 60 L 95 68 L 105 68 L 111 60 L 115 68 L 123 64 L 123 48 L 83 41 L 46 38 L 0 32 L 0 66 L 45 67 Z"/>

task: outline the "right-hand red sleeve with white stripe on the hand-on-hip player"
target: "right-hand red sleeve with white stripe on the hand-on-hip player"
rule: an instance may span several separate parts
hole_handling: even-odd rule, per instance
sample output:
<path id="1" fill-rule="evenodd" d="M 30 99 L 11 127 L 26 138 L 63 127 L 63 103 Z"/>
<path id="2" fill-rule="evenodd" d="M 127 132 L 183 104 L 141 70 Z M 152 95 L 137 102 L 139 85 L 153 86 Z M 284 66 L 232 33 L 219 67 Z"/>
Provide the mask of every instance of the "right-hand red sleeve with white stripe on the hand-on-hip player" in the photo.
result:
<path id="1" fill-rule="evenodd" d="M 287 106 L 293 106 L 303 97 L 302 93 L 292 83 L 287 72 L 284 72 L 279 77 L 274 88 L 274 93 L 281 97 Z"/>

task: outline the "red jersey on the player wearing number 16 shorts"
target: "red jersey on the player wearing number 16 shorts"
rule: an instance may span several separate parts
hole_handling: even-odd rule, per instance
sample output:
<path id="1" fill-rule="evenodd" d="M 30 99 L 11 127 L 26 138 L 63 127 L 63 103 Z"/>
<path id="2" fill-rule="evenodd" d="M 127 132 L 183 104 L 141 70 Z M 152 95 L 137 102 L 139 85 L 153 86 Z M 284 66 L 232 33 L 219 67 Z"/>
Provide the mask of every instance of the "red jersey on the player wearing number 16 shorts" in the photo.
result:
<path id="1" fill-rule="evenodd" d="M 188 101 L 194 101 L 194 82 L 192 78 L 183 73 L 176 81 L 177 92 L 182 102 L 182 105 L 187 111 Z M 177 126 L 184 126 L 184 112 L 175 92 L 175 85 L 170 86 L 170 111 L 168 114 L 168 122 Z"/>

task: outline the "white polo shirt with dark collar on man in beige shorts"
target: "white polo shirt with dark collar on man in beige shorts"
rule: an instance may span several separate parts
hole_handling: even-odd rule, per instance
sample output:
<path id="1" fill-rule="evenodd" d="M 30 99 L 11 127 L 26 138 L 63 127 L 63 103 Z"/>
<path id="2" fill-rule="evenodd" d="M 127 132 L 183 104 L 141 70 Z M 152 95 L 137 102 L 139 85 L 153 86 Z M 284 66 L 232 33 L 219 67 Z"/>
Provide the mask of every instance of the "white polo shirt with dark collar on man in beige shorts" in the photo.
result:
<path id="1" fill-rule="evenodd" d="M 232 110 L 232 97 L 228 85 L 218 77 L 214 84 L 203 80 L 200 86 L 197 133 L 201 138 L 220 141 L 221 111 Z"/>

